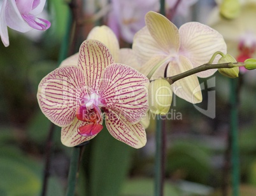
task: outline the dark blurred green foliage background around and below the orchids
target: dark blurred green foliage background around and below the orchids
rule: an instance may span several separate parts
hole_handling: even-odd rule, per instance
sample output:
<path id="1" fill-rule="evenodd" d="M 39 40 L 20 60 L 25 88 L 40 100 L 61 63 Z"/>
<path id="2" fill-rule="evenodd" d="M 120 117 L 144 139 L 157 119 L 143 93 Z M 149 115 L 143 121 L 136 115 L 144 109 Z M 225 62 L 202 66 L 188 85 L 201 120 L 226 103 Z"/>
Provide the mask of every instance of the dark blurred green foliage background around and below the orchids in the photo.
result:
<path id="1" fill-rule="evenodd" d="M 40 39 L 9 30 L 10 46 L 0 44 L 0 195 L 41 194 L 50 121 L 36 100 L 41 79 L 58 66 L 68 6 L 51 0 L 52 27 Z M 54 15 L 54 17 L 53 17 Z M 89 29 L 87 29 L 89 31 Z M 80 43 L 78 43 L 79 45 Z M 239 150 L 241 193 L 256 195 L 256 77 L 241 75 L 239 84 Z M 165 195 L 221 195 L 229 169 L 229 79 L 216 73 L 216 117 L 210 119 L 186 101 L 174 97 L 173 119 L 166 121 L 167 159 Z M 255 80 L 255 79 L 254 79 Z M 249 82 L 248 82 L 249 81 Z M 206 84 L 207 79 L 201 79 Z M 207 87 L 206 87 L 207 89 Z M 203 91 L 207 107 L 208 91 Z M 181 114 L 181 119 L 177 115 Z M 176 117 L 175 117 L 176 116 Z M 139 150 L 115 140 L 104 129 L 85 146 L 77 195 L 153 195 L 155 122 L 148 127 L 148 143 Z M 66 192 L 71 148 L 60 143 L 55 127 L 47 195 Z"/>

